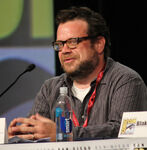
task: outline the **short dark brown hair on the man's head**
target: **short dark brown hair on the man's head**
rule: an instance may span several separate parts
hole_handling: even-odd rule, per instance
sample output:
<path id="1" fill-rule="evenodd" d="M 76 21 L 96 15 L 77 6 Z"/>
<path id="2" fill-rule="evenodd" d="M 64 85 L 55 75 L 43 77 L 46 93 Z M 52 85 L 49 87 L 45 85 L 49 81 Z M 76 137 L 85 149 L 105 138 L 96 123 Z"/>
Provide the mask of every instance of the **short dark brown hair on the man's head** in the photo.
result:
<path id="1" fill-rule="evenodd" d="M 105 19 L 101 14 L 91 10 L 88 7 L 71 7 L 69 9 L 60 10 L 56 16 L 56 23 L 81 19 L 88 23 L 88 36 L 98 37 L 103 36 L 106 40 L 104 56 L 105 58 L 110 55 L 110 32 L 106 25 Z M 91 40 L 92 41 L 92 40 Z"/>

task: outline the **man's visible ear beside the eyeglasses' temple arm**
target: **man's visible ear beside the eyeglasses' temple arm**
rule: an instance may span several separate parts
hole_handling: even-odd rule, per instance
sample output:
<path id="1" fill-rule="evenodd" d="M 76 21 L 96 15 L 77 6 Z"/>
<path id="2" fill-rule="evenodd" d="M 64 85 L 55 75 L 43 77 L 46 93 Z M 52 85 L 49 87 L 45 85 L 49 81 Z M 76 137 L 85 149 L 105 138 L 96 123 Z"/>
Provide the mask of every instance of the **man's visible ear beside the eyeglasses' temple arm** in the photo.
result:
<path id="1" fill-rule="evenodd" d="M 106 40 L 103 36 L 99 36 L 97 38 L 97 41 L 95 42 L 95 48 L 99 55 L 101 55 L 104 52 Z"/>

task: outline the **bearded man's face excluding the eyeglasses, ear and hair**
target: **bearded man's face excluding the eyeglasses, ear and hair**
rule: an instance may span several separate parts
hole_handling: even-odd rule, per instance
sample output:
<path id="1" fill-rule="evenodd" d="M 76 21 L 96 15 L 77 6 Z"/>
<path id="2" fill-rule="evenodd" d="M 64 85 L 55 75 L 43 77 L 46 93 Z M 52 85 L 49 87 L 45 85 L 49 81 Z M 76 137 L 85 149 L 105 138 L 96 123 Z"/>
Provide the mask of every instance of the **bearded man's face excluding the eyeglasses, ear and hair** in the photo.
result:
<path id="1" fill-rule="evenodd" d="M 87 28 L 88 24 L 83 20 L 60 24 L 57 30 L 57 41 L 88 36 Z M 74 49 L 70 49 L 65 43 L 59 51 L 59 59 L 64 71 L 75 79 L 88 76 L 99 62 L 98 53 L 91 46 L 89 39 L 83 40 Z"/>

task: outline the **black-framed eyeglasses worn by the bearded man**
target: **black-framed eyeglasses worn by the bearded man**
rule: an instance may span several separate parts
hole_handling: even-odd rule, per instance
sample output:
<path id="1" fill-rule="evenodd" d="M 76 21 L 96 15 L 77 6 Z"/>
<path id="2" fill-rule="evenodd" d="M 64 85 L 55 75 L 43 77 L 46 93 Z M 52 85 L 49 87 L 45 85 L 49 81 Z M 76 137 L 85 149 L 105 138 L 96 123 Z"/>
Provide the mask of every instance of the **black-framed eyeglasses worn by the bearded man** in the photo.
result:
<path id="1" fill-rule="evenodd" d="M 83 40 L 87 40 L 87 39 L 91 39 L 91 38 L 95 38 L 95 37 L 86 36 L 86 37 L 70 38 L 66 41 L 55 41 L 55 42 L 52 42 L 52 46 L 55 51 L 61 51 L 62 48 L 64 47 L 64 44 L 66 43 L 68 48 L 74 49 Z"/>

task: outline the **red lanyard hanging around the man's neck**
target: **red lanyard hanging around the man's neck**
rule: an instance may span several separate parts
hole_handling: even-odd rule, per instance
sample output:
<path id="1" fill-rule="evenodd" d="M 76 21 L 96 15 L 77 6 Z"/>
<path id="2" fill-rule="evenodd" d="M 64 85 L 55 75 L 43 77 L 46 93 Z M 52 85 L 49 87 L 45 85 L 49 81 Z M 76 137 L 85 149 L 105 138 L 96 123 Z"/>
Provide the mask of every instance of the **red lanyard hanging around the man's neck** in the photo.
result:
<path id="1" fill-rule="evenodd" d="M 104 65 L 105 66 L 105 65 Z M 100 83 L 101 79 L 103 78 L 103 73 L 104 73 L 104 68 L 102 69 L 102 71 L 98 74 L 97 76 L 97 79 L 96 79 L 96 85 L 95 85 L 95 89 L 89 99 L 89 102 L 88 102 L 88 107 L 87 107 L 87 118 L 83 124 L 83 127 L 86 127 L 87 124 L 88 124 L 88 116 L 89 116 L 89 113 L 90 113 L 90 110 L 92 109 L 93 105 L 94 105 L 94 102 L 95 102 L 95 97 L 96 97 L 96 88 L 98 86 L 98 84 Z M 78 122 L 78 119 L 73 111 L 73 123 L 75 125 L 75 127 L 79 126 L 79 122 Z"/>

